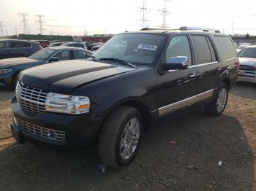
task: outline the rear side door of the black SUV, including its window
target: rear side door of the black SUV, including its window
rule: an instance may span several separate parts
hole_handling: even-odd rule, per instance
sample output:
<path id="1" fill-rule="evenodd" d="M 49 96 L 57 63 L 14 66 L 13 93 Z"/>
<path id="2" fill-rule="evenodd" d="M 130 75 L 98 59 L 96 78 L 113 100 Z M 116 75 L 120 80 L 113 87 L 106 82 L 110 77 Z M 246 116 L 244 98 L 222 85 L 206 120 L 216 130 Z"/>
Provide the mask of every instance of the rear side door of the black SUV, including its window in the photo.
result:
<path id="1" fill-rule="evenodd" d="M 221 66 L 211 39 L 206 35 L 191 35 L 195 47 L 198 69 L 197 94 L 202 98 L 211 97 L 220 79 Z"/>

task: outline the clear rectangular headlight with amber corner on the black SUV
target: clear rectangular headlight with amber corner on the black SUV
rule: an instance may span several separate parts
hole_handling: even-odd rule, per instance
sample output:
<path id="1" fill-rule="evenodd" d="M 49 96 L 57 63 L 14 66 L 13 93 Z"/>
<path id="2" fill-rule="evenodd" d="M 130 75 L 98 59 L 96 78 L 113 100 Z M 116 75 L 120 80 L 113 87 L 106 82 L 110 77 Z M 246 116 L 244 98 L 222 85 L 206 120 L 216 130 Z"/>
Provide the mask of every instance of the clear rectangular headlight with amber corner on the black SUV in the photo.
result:
<path id="1" fill-rule="evenodd" d="M 86 96 L 48 93 L 45 110 L 65 114 L 85 114 L 90 109 L 90 100 Z"/>

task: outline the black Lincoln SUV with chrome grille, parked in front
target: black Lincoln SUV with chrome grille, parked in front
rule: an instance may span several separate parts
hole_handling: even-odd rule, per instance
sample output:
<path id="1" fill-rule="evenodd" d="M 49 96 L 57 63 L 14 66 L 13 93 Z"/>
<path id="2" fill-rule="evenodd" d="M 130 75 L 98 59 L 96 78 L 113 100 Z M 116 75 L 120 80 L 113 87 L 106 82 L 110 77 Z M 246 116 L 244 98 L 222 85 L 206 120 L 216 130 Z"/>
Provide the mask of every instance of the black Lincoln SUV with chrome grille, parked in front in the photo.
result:
<path id="1" fill-rule="evenodd" d="M 236 83 L 230 36 L 210 29 L 118 34 L 90 61 L 65 61 L 22 71 L 12 99 L 12 134 L 64 149 L 97 141 L 113 168 L 135 157 L 143 128 L 204 106 L 219 116 Z"/>

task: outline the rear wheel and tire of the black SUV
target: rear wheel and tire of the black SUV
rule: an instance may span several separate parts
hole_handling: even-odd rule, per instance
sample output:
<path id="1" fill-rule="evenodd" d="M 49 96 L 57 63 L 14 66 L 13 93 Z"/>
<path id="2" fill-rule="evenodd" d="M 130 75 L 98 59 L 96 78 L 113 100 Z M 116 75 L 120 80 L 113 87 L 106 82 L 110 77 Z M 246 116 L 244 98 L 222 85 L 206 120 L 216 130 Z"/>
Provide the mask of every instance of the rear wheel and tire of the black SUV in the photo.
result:
<path id="1" fill-rule="evenodd" d="M 227 106 L 227 98 L 228 87 L 225 83 L 220 83 L 213 100 L 205 106 L 206 114 L 213 117 L 221 115 Z"/>

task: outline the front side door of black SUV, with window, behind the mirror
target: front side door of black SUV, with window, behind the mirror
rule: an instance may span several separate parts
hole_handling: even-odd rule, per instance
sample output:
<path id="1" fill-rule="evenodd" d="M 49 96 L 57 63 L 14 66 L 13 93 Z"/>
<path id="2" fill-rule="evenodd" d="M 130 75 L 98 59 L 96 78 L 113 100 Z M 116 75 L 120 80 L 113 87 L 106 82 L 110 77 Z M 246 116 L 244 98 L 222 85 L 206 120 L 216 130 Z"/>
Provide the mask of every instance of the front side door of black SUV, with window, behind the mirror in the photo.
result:
<path id="1" fill-rule="evenodd" d="M 163 71 L 157 74 L 159 117 L 190 106 L 197 94 L 197 67 L 193 67 L 193 55 L 187 35 L 177 35 L 170 43 L 161 63 L 170 57 L 187 56 L 188 69 Z"/>

